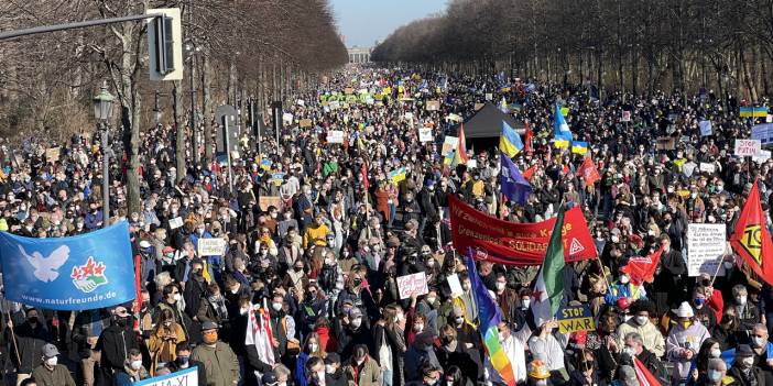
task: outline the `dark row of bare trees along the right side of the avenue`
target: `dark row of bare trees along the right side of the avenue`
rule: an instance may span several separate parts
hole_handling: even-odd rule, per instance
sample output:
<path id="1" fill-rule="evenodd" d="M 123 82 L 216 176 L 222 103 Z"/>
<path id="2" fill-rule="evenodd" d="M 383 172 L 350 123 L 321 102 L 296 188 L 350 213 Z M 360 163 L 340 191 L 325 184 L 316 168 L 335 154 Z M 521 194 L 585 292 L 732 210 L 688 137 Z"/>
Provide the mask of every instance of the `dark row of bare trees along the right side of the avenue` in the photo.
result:
<path id="1" fill-rule="evenodd" d="M 396 30 L 371 58 L 758 100 L 773 80 L 772 43 L 773 0 L 451 0 Z"/>

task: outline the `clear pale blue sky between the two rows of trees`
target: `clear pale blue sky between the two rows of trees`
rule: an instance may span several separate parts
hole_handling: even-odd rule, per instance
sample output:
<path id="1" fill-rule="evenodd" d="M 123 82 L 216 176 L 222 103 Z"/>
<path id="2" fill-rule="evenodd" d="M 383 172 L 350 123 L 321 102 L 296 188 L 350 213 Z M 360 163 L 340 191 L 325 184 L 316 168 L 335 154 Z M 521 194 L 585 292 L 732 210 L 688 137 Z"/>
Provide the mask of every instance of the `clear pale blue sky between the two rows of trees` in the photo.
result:
<path id="1" fill-rule="evenodd" d="M 372 46 L 392 31 L 446 9 L 446 0 L 330 0 L 347 47 Z"/>

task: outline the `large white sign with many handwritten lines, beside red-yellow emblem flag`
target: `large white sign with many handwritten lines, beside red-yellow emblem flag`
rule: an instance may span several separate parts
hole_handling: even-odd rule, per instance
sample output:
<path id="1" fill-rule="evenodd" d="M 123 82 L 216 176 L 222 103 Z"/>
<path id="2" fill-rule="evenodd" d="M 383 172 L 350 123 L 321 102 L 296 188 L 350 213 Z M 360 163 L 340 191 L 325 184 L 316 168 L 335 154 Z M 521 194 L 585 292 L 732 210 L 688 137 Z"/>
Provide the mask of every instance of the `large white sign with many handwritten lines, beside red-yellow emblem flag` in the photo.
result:
<path id="1" fill-rule="evenodd" d="M 687 276 L 709 274 L 714 276 L 717 264 L 725 255 L 727 245 L 726 224 L 687 225 Z"/>

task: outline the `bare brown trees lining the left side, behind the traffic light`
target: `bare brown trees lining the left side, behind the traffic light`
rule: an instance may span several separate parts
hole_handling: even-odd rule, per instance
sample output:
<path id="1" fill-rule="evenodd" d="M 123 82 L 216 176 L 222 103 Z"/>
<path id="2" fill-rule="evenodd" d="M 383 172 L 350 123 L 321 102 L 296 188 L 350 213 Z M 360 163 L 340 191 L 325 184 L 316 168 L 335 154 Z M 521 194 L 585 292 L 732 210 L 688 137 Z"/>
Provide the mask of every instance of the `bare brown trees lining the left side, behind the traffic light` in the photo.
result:
<path id="1" fill-rule="evenodd" d="M 153 123 L 153 96 L 176 126 L 177 169 L 186 165 L 192 104 L 211 159 L 211 121 L 222 103 L 252 97 L 262 111 L 291 88 L 312 86 L 348 59 L 327 0 L 8 0 L 0 30 L 15 30 L 181 8 L 184 81 L 148 79 L 146 27 L 126 22 L 0 42 L 0 135 L 67 137 L 92 131 L 90 99 L 107 79 L 117 96 L 113 128 L 127 153 L 130 211 L 140 205 L 140 130 Z M 193 90 L 188 76 L 193 74 Z M 194 101 L 194 103 L 192 103 Z M 45 133 L 45 134 L 43 134 Z M 179 178 L 184 173 L 177 174 Z"/>

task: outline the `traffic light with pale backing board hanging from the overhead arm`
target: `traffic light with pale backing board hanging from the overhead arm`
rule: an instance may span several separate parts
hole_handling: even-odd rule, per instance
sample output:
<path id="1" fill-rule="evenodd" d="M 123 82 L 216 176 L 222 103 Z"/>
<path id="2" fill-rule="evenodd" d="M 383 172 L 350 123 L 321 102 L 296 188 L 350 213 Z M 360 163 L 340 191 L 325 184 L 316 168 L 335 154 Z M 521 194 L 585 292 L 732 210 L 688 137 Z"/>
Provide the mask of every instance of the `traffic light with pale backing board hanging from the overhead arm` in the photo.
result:
<path id="1" fill-rule="evenodd" d="M 151 80 L 183 79 L 183 33 L 178 8 L 149 9 L 148 53 Z"/>

